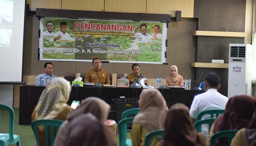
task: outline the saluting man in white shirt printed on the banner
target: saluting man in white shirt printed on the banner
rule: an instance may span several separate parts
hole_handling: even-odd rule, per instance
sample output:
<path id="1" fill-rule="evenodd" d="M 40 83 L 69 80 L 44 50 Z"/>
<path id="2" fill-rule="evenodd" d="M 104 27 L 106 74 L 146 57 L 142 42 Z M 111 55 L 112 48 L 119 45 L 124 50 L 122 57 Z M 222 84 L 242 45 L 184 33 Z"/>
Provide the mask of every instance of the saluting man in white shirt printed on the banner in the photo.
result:
<path id="1" fill-rule="evenodd" d="M 140 33 L 137 33 L 137 30 L 140 28 Z M 150 39 L 153 37 L 147 33 L 147 25 L 146 24 L 140 24 L 138 25 L 135 30 L 135 37 L 137 38 L 138 43 L 151 43 Z"/>

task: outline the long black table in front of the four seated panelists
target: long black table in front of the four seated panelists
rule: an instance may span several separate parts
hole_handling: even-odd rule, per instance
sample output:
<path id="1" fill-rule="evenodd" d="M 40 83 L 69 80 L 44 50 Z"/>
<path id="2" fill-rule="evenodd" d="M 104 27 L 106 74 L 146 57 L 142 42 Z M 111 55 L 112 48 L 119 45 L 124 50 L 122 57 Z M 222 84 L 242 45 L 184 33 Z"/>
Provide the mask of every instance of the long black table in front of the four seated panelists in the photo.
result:
<path id="1" fill-rule="evenodd" d="M 20 103 L 19 103 L 19 124 L 31 124 L 31 115 L 38 103 L 39 97 L 45 87 L 35 85 L 20 85 Z M 68 104 L 73 100 L 83 100 L 87 97 L 98 97 L 111 104 L 112 99 L 125 98 L 139 99 L 143 88 L 121 88 L 121 87 L 72 87 Z M 189 108 L 194 96 L 204 91 L 184 90 L 184 89 L 158 89 L 166 100 L 168 107 L 175 103 L 184 103 Z"/>

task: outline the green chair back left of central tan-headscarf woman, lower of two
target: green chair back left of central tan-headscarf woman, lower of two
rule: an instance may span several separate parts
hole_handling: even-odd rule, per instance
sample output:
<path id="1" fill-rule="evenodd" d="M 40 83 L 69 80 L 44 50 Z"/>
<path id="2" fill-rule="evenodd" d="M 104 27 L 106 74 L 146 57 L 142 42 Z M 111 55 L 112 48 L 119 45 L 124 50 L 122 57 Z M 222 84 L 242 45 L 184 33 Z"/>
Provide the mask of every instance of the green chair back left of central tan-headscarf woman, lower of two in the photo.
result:
<path id="1" fill-rule="evenodd" d="M 127 137 L 127 123 L 132 123 L 134 117 L 124 118 L 118 122 L 119 146 L 125 146 Z"/>

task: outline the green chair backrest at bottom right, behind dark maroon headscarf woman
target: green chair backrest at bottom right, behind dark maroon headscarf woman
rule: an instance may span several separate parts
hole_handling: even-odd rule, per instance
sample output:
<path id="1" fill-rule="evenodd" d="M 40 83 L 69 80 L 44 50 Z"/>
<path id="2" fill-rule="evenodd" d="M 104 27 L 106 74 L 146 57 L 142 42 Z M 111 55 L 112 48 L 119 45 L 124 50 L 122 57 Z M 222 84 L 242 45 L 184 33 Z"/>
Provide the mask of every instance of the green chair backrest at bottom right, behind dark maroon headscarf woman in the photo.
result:
<path id="1" fill-rule="evenodd" d="M 228 138 L 228 146 L 230 146 L 232 139 L 235 137 L 238 130 L 225 130 L 225 131 L 219 131 L 212 135 L 211 137 L 211 146 L 216 145 L 216 141 L 219 138 L 226 137 Z"/>

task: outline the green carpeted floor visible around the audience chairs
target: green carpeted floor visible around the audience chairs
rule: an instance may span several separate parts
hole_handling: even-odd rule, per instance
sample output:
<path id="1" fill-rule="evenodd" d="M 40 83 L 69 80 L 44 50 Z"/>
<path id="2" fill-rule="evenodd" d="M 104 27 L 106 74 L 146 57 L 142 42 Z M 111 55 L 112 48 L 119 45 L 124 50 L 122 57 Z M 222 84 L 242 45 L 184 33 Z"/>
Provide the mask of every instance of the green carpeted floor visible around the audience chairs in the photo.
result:
<path id="1" fill-rule="evenodd" d="M 19 125 L 19 109 L 14 109 L 15 118 L 14 118 L 14 134 L 20 136 L 20 145 L 21 146 L 36 146 L 37 142 L 35 140 L 34 133 L 30 125 Z M 9 113 L 6 110 L 1 110 L 1 124 L 0 132 L 8 133 L 9 128 Z M 131 132 L 127 133 L 127 138 L 131 138 Z M 119 145 L 119 137 L 116 137 L 116 143 Z M 9 146 L 16 146 L 12 144 Z"/>

